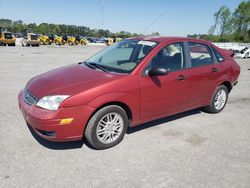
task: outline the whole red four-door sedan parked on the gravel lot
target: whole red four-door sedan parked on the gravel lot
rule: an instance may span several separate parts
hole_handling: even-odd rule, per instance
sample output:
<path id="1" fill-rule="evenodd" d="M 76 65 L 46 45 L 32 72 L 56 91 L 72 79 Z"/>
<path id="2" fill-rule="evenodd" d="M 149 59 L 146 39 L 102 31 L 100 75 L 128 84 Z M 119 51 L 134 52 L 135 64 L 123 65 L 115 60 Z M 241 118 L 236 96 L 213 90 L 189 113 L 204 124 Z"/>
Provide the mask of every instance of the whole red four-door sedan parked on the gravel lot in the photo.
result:
<path id="1" fill-rule="evenodd" d="M 128 126 L 198 107 L 222 111 L 240 73 L 232 56 L 204 40 L 131 38 L 31 79 L 19 107 L 47 140 L 85 136 L 105 149 L 118 144 Z"/>

